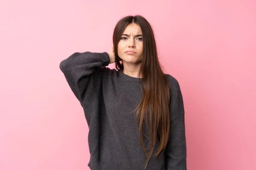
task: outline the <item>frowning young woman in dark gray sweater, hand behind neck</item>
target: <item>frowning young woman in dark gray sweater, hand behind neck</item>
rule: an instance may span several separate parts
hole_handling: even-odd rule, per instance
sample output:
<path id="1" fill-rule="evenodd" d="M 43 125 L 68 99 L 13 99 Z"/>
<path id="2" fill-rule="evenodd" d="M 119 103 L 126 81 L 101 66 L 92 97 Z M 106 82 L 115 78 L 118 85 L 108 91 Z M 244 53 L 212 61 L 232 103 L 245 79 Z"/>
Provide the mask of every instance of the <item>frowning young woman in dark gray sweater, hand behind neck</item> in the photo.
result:
<path id="1" fill-rule="evenodd" d="M 91 170 L 186 170 L 180 86 L 144 17 L 119 20 L 108 53 L 77 52 L 60 68 L 84 109 Z"/>

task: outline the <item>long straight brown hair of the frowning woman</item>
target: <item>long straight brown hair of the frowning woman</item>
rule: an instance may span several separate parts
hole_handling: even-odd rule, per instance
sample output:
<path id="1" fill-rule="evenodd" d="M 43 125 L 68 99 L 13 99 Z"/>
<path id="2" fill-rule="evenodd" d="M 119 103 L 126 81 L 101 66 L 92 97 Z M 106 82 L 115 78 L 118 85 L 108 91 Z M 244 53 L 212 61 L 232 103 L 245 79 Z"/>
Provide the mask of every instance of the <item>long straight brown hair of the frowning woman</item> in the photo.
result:
<path id="1" fill-rule="evenodd" d="M 141 87 L 142 100 L 137 106 L 137 124 L 140 130 L 140 143 L 146 154 L 147 161 L 145 167 L 148 164 L 150 157 L 152 156 L 157 137 L 159 138 L 159 147 L 157 148 L 158 156 L 165 147 L 169 140 L 170 132 L 170 119 L 169 119 L 169 86 L 166 75 L 163 73 L 160 63 L 157 57 L 157 46 L 154 38 L 153 30 L 148 21 L 141 15 L 127 16 L 119 20 L 114 28 L 113 32 L 113 47 L 115 54 L 115 66 L 116 69 L 123 69 L 124 66 L 122 59 L 117 54 L 117 46 L 121 35 L 126 26 L 131 23 L 136 23 L 141 27 L 143 34 L 143 59 L 140 67 L 140 75 L 143 75 Z M 147 111 L 149 108 L 150 126 L 148 127 Z M 150 133 L 151 150 L 147 153 L 145 144 L 143 142 L 143 125 L 147 125 Z M 147 137 L 147 136 L 146 136 Z"/>

